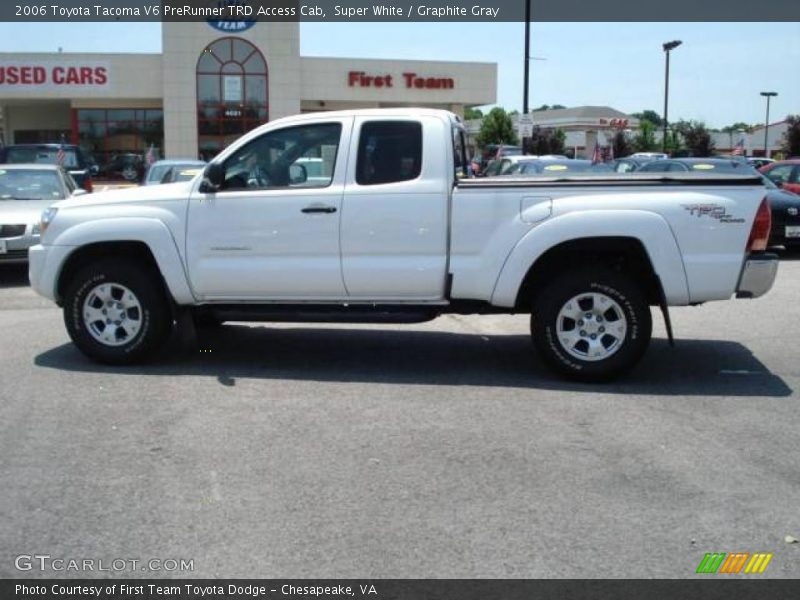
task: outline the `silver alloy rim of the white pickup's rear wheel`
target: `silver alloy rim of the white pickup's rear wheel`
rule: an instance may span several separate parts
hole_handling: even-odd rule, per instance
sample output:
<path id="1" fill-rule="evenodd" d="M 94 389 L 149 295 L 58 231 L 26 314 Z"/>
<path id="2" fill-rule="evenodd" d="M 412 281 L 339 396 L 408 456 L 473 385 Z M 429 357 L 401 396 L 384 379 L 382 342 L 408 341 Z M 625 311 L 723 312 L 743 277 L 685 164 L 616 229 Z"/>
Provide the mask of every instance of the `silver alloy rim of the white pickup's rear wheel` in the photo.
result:
<path id="1" fill-rule="evenodd" d="M 561 347 L 570 356 L 592 362 L 616 353 L 627 332 L 628 320 L 620 305 L 596 292 L 570 298 L 561 307 L 556 321 Z"/>

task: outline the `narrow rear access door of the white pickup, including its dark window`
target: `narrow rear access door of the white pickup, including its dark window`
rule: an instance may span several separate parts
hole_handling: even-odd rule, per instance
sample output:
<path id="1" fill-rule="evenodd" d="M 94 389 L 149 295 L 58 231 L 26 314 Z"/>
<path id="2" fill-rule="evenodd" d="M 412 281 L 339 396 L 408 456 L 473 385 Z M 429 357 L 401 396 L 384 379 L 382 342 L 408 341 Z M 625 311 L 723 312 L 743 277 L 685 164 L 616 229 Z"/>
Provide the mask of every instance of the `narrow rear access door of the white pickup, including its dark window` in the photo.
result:
<path id="1" fill-rule="evenodd" d="M 355 119 L 341 222 L 349 297 L 444 297 L 450 136 L 435 117 Z"/>

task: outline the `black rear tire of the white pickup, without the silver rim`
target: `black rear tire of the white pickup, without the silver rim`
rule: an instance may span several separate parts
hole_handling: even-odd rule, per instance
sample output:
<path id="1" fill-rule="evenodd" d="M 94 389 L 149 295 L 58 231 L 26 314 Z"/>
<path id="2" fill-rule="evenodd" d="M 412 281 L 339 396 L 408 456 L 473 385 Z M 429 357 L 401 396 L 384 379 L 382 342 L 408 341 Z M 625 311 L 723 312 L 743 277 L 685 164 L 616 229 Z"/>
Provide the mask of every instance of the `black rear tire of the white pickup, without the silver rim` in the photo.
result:
<path id="1" fill-rule="evenodd" d="M 605 321 L 605 325 L 611 329 L 609 323 L 625 325 L 624 335 L 615 338 L 611 333 L 605 333 L 597 329 L 603 323 L 587 322 L 586 327 L 578 327 L 574 332 L 567 331 L 566 336 L 562 330 L 562 339 L 569 342 L 575 339 L 574 336 L 583 336 L 589 327 L 595 338 L 593 344 L 599 342 L 603 348 L 598 348 L 599 354 L 608 353 L 606 358 L 586 360 L 583 353 L 588 357 L 589 340 L 586 337 L 577 338 L 577 343 L 562 343 L 558 336 L 559 313 L 567 304 L 583 294 L 599 294 L 596 298 L 605 296 L 612 303 L 611 312 L 605 314 L 606 319 L 597 319 L 598 315 L 589 317 L 595 321 Z M 589 303 L 590 297 L 582 298 L 580 302 Z M 593 303 L 576 304 L 583 312 L 583 306 L 592 307 Z M 603 302 L 606 302 L 603 300 Z M 616 306 L 614 306 L 614 303 Z M 619 310 L 618 310 L 619 309 Z M 592 312 L 592 309 L 588 309 Z M 618 314 L 621 311 L 621 314 Z M 589 314 L 589 313 L 587 313 Z M 625 321 L 619 319 L 624 318 Z M 562 327 L 567 327 L 571 320 L 568 317 L 561 317 Z M 547 287 L 534 299 L 531 314 L 531 336 L 534 345 L 542 357 L 543 361 L 557 373 L 577 381 L 608 381 L 629 371 L 636 365 L 644 355 L 650 343 L 652 334 L 652 317 L 650 307 L 645 299 L 642 289 L 636 282 L 624 273 L 612 271 L 610 269 L 598 267 L 582 269 L 566 273 L 553 280 Z M 600 331 L 604 331 L 601 333 Z M 572 335 L 573 338 L 567 336 Z M 595 340 L 599 338 L 598 342 Z M 606 348 L 608 344 L 608 348 Z M 567 349 L 571 346 L 571 350 Z M 613 352 L 612 352 L 613 350 Z M 576 356 L 580 354 L 580 356 Z"/>

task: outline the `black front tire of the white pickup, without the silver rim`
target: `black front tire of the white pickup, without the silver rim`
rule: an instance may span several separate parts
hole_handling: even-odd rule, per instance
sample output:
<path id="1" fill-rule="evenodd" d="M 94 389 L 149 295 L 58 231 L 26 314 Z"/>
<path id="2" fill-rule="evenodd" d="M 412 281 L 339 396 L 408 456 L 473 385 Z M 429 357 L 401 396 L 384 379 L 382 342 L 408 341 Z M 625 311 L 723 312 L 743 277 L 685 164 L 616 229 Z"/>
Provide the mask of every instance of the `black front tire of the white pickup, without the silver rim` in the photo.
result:
<path id="1" fill-rule="evenodd" d="M 118 345 L 106 345 L 95 339 L 90 327 L 96 330 L 97 321 L 90 325 L 86 318 L 88 313 L 84 314 L 87 296 L 103 284 L 109 286 L 111 294 L 118 294 L 120 286 L 124 286 L 133 293 L 140 307 L 128 315 L 136 321 L 138 330 L 130 339 L 115 335 L 115 339 L 120 338 Z M 64 323 L 70 338 L 86 356 L 106 364 L 126 365 L 145 362 L 163 347 L 172 326 L 172 316 L 161 278 L 151 267 L 107 258 L 84 267 L 70 282 L 64 295 Z"/>

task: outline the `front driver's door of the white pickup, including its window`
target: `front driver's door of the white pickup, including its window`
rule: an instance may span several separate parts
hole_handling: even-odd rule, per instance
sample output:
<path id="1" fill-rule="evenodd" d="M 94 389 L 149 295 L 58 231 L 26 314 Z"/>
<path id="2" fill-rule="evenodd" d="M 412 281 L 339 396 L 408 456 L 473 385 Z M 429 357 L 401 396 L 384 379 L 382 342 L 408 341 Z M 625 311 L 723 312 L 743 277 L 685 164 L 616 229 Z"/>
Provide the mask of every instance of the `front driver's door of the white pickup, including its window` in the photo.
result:
<path id="1" fill-rule="evenodd" d="M 224 161 L 220 190 L 193 194 L 186 256 L 206 300 L 341 299 L 339 255 L 352 118 L 287 126 Z"/>

